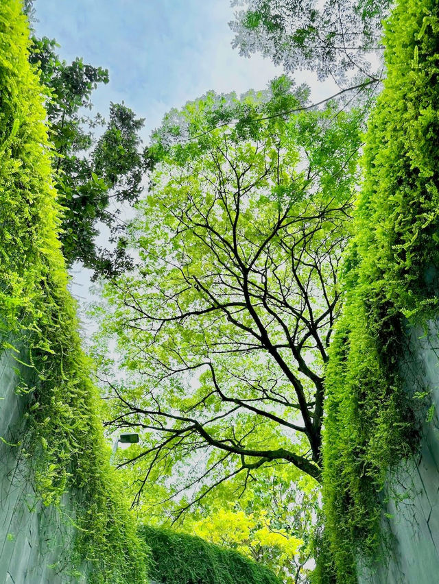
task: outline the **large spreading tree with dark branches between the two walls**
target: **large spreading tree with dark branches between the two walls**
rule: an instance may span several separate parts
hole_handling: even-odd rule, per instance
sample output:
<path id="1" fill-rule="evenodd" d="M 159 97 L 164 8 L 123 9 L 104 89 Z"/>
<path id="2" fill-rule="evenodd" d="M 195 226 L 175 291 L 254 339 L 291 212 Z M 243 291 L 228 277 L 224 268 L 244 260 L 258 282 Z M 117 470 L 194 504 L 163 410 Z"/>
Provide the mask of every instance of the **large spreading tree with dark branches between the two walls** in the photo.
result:
<path id="1" fill-rule="evenodd" d="M 108 425 L 142 434 L 139 495 L 168 480 L 189 496 L 181 512 L 227 478 L 245 489 L 263 466 L 320 480 L 361 114 L 307 110 L 303 92 L 283 77 L 270 99 L 209 93 L 168 117 L 132 236 L 139 269 L 106 288 L 104 337 L 116 335 L 126 371 L 108 374 Z M 218 111 L 241 117 L 204 130 Z"/>

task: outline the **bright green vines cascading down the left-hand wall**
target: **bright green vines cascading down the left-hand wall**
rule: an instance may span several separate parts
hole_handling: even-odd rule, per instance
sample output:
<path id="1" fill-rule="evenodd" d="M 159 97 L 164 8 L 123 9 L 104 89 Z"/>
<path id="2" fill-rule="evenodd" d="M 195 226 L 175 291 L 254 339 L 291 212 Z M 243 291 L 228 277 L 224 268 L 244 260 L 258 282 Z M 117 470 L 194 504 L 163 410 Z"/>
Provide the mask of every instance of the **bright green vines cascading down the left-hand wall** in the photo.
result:
<path id="1" fill-rule="evenodd" d="M 145 552 L 120 479 L 108 463 L 99 397 L 80 348 L 75 304 L 57 232 L 43 91 L 29 64 L 19 0 L 0 3 L 0 334 L 2 348 L 28 350 L 34 385 L 19 447 L 43 504 L 69 489 L 77 526 L 75 560 L 94 583 L 143 583 Z"/>

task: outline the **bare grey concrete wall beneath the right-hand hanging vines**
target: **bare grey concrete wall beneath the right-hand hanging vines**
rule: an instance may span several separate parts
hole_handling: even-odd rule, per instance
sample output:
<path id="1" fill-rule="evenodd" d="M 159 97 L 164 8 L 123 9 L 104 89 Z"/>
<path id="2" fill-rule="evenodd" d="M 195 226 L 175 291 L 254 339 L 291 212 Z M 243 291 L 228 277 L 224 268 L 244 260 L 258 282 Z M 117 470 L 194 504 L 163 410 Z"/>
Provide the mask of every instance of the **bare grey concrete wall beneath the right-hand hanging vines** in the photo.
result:
<path id="1" fill-rule="evenodd" d="M 381 557 L 359 570 L 359 584 L 435 584 L 439 582 L 439 327 L 427 335 L 408 335 L 402 374 L 407 393 L 431 392 L 416 458 L 392 473 L 383 500 Z M 425 417 L 425 412 L 422 414 Z"/>

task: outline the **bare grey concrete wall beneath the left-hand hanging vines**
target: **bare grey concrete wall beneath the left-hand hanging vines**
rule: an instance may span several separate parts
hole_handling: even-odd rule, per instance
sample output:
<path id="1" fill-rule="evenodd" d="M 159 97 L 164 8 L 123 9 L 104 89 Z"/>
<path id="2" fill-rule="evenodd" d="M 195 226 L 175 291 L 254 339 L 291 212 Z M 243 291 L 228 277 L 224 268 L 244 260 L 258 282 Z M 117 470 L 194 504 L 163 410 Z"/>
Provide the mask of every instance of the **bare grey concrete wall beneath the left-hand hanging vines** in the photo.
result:
<path id="1" fill-rule="evenodd" d="M 16 355 L 20 361 L 25 356 Z M 17 393 L 31 369 L 12 352 L 0 355 L 0 584 L 69 584 L 84 582 L 69 573 L 73 528 L 69 500 L 61 512 L 44 507 L 29 482 L 29 462 L 19 446 L 29 396 Z"/>

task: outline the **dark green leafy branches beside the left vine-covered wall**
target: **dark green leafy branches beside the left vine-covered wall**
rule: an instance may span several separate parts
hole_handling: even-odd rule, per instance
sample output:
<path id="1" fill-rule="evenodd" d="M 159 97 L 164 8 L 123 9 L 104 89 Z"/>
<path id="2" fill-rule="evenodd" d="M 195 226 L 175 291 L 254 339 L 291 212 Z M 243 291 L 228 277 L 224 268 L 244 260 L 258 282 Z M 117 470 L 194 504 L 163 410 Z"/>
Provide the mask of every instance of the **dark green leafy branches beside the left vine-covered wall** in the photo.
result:
<path id="1" fill-rule="evenodd" d="M 68 265 L 80 261 L 93 269 L 94 278 L 113 276 L 132 265 L 119 211 L 121 203 L 134 203 L 142 192 L 139 131 L 144 120 L 123 102 L 110 104 L 107 124 L 100 114 L 87 116 L 93 90 L 108 83 L 108 71 L 85 64 L 82 58 L 67 64 L 58 57 L 56 46 L 55 40 L 32 36 L 29 60 L 38 66 L 50 93 L 46 109 L 56 149 L 56 189 L 65 208 L 62 252 Z M 102 135 L 95 138 L 99 127 L 104 127 Z M 116 244 L 114 250 L 95 242 L 103 226 L 109 230 L 110 243 Z"/>

